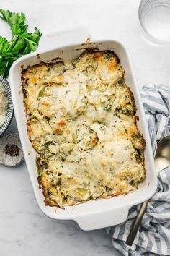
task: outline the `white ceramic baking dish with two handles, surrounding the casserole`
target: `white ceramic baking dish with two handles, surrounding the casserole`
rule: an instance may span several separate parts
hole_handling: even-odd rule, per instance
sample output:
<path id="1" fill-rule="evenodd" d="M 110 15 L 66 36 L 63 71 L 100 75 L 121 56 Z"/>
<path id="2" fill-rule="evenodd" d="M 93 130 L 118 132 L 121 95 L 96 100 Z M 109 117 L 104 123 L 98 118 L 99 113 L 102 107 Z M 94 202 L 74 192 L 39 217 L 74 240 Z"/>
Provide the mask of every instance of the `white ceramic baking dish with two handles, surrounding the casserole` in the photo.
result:
<path id="1" fill-rule="evenodd" d="M 17 127 L 37 203 L 46 216 L 58 220 L 74 220 L 79 224 L 81 229 L 84 230 L 100 229 L 122 223 L 128 217 L 129 208 L 133 205 L 137 205 L 140 202 L 148 200 L 148 198 L 153 196 L 157 187 L 156 171 L 153 161 L 151 142 L 148 135 L 146 117 L 143 111 L 143 104 L 140 100 L 140 93 L 138 90 L 137 81 L 135 79 L 130 54 L 128 53 L 127 48 L 118 40 L 95 40 L 95 43 L 94 41 L 91 42 L 94 43 L 93 46 L 95 48 L 99 48 L 100 50 L 115 51 L 117 56 L 120 58 L 122 68 L 125 69 L 125 81 L 130 87 L 130 90 L 133 91 L 137 106 L 137 115 L 140 118 L 138 121 L 138 127 L 142 132 L 143 137 L 146 139 L 146 180 L 140 185 L 137 191 L 125 196 L 120 195 L 107 200 L 91 200 L 79 205 L 68 206 L 65 208 L 65 210 L 56 210 L 55 207 L 50 206 L 45 207 L 42 190 L 39 189 L 37 182 L 37 170 L 35 166 L 36 154 L 27 135 L 26 117 L 24 113 L 21 87 L 22 67 L 25 69 L 29 65 L 32 66 L 40 63 L 40 61 L 47 62 L 55 57 L 61 57 L 68 60 L 75 59 L 81 54 L 81 52 L 84 51 L 84 49 L 82 49 L 84 48 L 82 43 L 86 41 L 88 35 L 89 33 L 87 33 L 86 30 L 79 29 L 58 35 L 50 35 L 44 39 L 42 38 L 38 50 L 35 53 L 23 56 L 15 61 L 9 73 Z"/>

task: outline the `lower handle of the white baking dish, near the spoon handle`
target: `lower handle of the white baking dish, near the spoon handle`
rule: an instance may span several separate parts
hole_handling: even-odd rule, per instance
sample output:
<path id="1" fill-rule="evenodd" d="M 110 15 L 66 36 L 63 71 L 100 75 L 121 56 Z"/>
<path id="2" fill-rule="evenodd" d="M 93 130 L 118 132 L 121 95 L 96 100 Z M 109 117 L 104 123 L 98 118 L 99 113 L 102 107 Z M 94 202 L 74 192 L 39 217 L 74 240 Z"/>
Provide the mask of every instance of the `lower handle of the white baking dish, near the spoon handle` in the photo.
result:
<path id="1" fill-rule="evenodd" d="M 74 218 L 79 227 L 83 230 L 102 229 L 108 226 L 115 226 L 127 220 L 128 208 L 119 208 L 102 213 L 95 213 Z"/>

